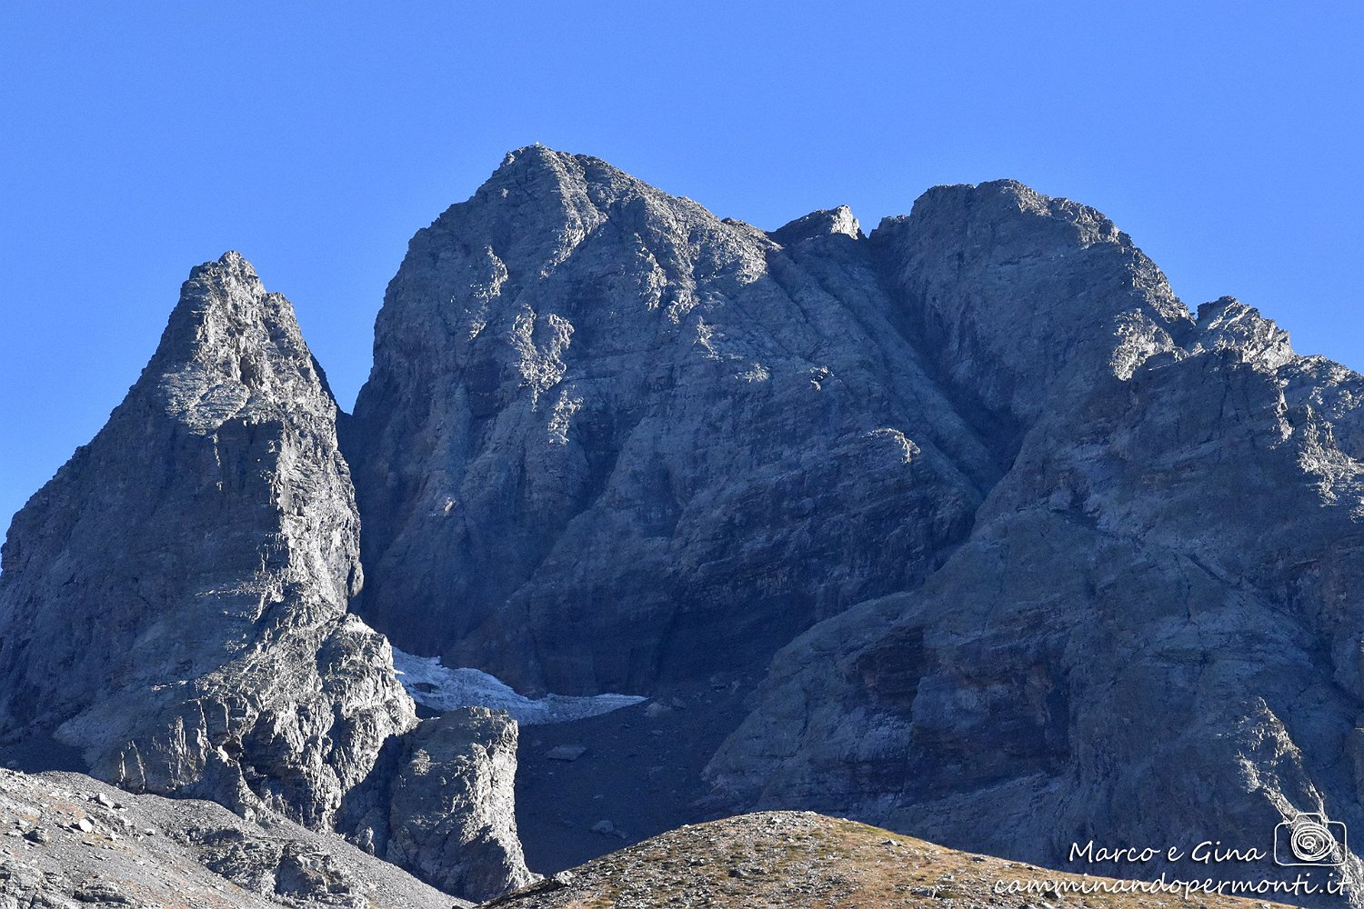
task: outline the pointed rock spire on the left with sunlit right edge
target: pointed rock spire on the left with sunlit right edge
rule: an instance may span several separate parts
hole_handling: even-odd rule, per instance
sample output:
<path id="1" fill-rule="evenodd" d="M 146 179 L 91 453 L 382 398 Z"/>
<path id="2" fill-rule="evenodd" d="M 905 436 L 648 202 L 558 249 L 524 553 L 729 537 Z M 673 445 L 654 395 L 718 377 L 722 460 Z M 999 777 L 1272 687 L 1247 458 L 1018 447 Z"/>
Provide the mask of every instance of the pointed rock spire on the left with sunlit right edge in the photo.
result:
<path id="1" fill-rule="evenodd" d="M 0 739 L 326 826 L 415 724 L 387 642 L 346 612 L 336 414 L 288 301 L 236 253 L 195 268 L 108 425 L 14 519 Z"/>

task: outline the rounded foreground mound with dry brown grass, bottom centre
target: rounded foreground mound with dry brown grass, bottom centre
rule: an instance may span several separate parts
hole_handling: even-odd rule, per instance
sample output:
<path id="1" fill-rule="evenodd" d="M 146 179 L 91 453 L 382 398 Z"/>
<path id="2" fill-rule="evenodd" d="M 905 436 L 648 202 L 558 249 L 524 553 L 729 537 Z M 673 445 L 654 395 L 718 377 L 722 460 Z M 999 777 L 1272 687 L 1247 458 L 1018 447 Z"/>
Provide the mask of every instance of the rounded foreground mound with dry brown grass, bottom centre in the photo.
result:
<path id="1" fill-rule="evenodd" d="M 1221 894 L 997 893 L 996 882 L 1087 882 L 853 820 L 761 812 L 672 830 L 528 887 L 491 909 L 1263 909 Z M 1065 886 L 1063 883 L 1063 886 Z"/>

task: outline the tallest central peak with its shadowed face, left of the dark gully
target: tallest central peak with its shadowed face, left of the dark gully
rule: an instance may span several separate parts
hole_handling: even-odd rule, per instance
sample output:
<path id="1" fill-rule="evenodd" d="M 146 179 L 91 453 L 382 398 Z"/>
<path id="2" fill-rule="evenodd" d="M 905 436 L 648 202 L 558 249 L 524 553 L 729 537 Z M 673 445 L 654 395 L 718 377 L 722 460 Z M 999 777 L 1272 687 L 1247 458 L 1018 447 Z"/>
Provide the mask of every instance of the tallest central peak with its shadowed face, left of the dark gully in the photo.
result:
<path id="1" fill-rule="evenodd" d="M 417 233 L 345 436 L 363 615 L 528 691 L 754 665 L 914 587 L 998 467 L 851 214 L 764 234 L 522 149 Z"/>

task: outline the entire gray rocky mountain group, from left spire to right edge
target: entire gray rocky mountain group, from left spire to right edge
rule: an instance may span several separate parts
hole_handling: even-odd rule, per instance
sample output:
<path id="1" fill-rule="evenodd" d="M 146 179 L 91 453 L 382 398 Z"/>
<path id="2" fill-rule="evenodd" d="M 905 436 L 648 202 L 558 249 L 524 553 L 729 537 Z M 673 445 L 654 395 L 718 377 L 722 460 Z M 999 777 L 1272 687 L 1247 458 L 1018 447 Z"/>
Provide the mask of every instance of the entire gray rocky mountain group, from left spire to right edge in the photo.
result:
<path id="1" fill-rule="evenodd" d="M 1292 880 L 1279 825 L 1364 829 L 1361 529 L 1364 378 L 1191 312 L 1093 209 L 998 181 L 762 232 L 535 146 L 413 237 L 353 417 L 250 266 L 195 270 L 11 527 L 0 756 L 522 905 L 587 891 L 532 883 L 518 759 L 543 871 L 803 808 Z"/>

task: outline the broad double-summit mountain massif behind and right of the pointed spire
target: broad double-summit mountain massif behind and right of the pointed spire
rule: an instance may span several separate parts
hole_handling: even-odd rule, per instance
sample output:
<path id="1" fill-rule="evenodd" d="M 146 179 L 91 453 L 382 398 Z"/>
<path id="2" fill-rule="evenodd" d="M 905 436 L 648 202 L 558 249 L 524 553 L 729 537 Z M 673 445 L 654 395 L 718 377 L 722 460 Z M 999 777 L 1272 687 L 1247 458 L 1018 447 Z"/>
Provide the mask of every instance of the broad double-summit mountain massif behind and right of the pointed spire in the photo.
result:
<path id="1" fill-rule="evenodd" d="M 1018 183 L 762 233 L 524 149 L 389 286 L 361 609 L 528 691 L 776 653 L 712 807 L 1266 846 L 1364 823 L 1361 388 Z"/>

